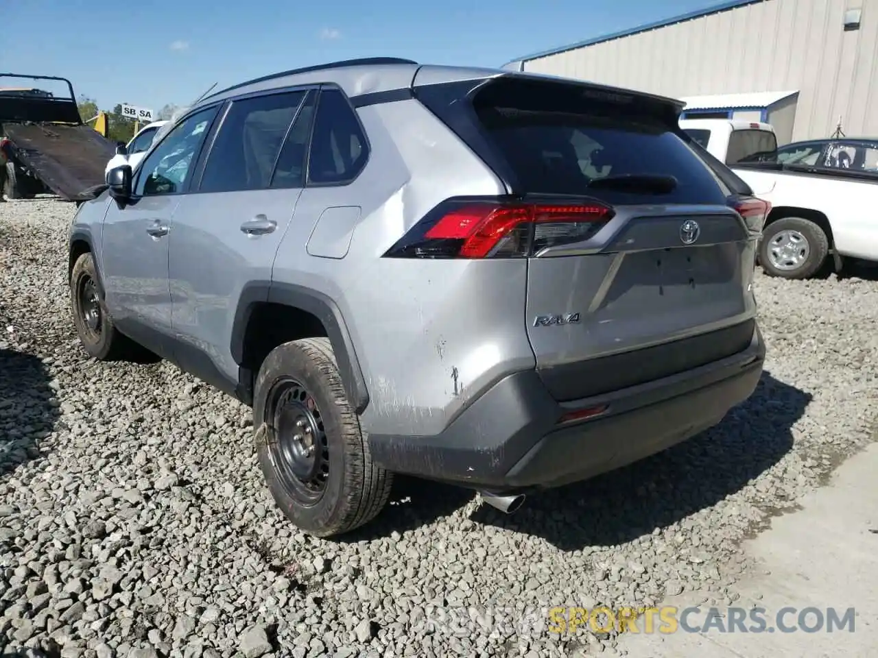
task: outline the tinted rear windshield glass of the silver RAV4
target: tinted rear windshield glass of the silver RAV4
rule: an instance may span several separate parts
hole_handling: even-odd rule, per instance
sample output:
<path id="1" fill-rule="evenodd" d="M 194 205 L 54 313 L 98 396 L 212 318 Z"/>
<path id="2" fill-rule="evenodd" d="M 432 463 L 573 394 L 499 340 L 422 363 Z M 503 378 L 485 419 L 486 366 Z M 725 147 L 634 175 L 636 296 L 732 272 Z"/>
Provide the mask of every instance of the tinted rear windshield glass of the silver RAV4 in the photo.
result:
<path id="1" fill-rule="evenodd" d="M 515 93 L 508 83 L 498 87 L 489 85 L 473 106 L 528 192 L 583 195 L 610 204 L 724 203 L 728 190 L 675 133 L 676 118 L 666 106 L 639 103 L 637 97 L 594 99 L 582 88 L 572 95 L 572 85 L 545 85 L 538 94 Z M 629 184 L 624 190 L 610 181 L 595 182 L 630 176 L 673 176 L 677 183 L 657 191 L 648 181 L 642 189 Z"/>

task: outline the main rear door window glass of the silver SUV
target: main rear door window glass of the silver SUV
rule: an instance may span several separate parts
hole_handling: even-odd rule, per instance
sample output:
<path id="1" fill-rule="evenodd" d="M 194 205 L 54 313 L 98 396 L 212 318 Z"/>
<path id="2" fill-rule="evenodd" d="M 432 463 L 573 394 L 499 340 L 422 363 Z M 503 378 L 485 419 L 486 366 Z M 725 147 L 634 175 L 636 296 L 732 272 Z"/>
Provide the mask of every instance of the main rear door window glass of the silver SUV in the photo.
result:
<path id="1" fill-rule="evenodd" d="M 219 127 L 199 190 L 267 188 L 281 144 L 304 97 L 304 91 L 292 91 L 235 101 Z"/>

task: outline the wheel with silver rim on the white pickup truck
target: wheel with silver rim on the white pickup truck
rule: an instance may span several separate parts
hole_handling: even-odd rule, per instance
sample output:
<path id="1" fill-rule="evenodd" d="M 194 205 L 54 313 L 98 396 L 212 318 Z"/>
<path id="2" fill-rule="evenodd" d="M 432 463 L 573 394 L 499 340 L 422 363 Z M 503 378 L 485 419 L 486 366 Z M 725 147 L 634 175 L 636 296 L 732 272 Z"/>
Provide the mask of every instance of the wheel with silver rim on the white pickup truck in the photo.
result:
<path id="1" fill-rule="evenodd" d="M 767 225 L 759 241 L 759 265 L 769 276 L 810 279 L 829 254 L 829 238 L 810 219 L 784 217 Z"/>

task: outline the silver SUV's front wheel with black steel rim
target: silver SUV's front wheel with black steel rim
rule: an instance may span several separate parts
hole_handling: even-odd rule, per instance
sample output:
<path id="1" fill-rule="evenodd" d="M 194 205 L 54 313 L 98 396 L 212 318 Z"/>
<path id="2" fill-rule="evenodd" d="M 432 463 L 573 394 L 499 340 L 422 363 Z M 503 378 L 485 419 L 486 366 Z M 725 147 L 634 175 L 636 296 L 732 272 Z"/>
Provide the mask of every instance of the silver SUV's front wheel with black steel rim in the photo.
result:
<path id="1" fill-rule="evenodd" d="M 94 258 L 90 253 L 81 255 L 70 275 L 70 306 L 83 348 L 98 361 L 117 361 L 137 354 L 139 347 L 113 325 L 98 282 Z"/>

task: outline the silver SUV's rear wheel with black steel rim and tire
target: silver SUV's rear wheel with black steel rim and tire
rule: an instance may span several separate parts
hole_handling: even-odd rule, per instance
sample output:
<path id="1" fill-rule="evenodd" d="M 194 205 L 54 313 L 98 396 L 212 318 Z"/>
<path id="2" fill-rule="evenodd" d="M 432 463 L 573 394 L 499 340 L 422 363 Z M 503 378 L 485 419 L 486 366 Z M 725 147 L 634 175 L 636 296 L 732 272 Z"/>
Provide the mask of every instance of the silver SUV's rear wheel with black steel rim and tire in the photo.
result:
<path id="1" fill-rule="evenodd" d="M 329 340 L 293 340 L 271 351 L 256 376 L 253 420 L 271 496 L 302 531 L 324 538 L 349 533 L 384 509 L 392 473 L 371 460 Z M 309 444 L 313 461 L 302 458 Z"/>

